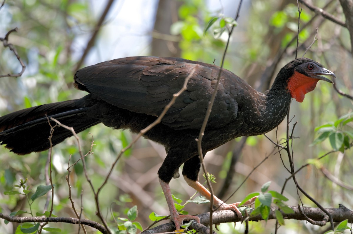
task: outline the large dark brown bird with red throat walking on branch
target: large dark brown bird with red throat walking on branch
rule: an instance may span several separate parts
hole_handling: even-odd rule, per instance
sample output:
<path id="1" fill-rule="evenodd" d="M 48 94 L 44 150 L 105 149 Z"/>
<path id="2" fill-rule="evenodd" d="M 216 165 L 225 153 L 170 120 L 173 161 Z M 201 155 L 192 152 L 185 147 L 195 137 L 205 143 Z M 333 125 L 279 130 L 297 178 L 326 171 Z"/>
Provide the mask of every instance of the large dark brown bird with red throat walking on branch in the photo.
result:
<path id="1" fill-rule="evenodd" d="M 129 57 L 82 68 L 74 76 L 74 86 L 89 92 L 88 95 L 2 116 L 0 142 L 20 155 L 48 149 L 50 128 L 46 115 L 76 132 L 102 122 L 108 127 L 137 133 L 156 120 L 194 68 L 187 90 L 177 98 L 162 122 L 144 137 L 166 148 L 168 155 L 158 176 L 175 227 L 179 229 L 183 220 L 199 222 L 198 217 L 178 214 L 169 181 L 179 176 L 179 167 L 184 163 L 186 182 L 210 199 L 208 190 L 198 182 L 200 161 L 195 138 L 214 92 L 218 66 L 180 58 Z M 223 70 L 202 140 L 203 154 L 236 137 L 255 136 L 275 128 L 285 118 L 292 98 L 302 102 L 318 80 L 331 82 L 320 75 L 335 77 L 311 59 L 295 59 L 280 70 L 271 89 L 261 93 L 232 72 Z M 70 131 L 59 127 L 54 131 L 52 143 L 58 144 L 70 136 Z M 238 203 L 227 205 L 216 197 L 214 202 L 220 209 L 233 210 L 241 217 Z"/>

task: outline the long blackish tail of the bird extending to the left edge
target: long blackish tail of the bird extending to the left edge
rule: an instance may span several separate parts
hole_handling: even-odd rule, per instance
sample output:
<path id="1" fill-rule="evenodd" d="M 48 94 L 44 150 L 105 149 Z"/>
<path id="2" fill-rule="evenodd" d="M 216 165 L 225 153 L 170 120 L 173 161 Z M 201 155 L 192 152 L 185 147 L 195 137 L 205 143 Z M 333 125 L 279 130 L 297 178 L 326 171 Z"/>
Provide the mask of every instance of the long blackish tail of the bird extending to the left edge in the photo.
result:
<path id="1" fill-rule="evenodd" d="M 19 110 L 0 117 L 0 144 L 6 144 L 16 154 L 29 154 L 50 148 L 49 136 L 51 117 L 62 124 L 73 127 L 75 132 L 100 123 L 95 115 L 98 100 L 89 94 L 77 100 L 44 104 Z M 50 121 L 55 126 L 54 121 Z M 52 144 L 56 145 L 72 136 L 71 131 L 55 127 Z"/>

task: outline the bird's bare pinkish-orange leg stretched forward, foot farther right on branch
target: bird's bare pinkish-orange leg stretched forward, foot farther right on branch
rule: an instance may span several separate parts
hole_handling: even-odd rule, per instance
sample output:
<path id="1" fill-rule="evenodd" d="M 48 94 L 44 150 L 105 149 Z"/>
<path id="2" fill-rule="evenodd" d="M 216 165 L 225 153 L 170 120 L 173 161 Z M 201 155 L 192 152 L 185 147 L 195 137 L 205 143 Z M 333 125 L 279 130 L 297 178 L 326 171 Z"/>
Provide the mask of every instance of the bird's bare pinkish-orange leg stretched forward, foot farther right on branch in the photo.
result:
<path id="1" fill-rule="evenodd" d="M 200 184 L 200 182 L 191 180 L 191 179 L 187 178 L 185 175 L 184 175 L 184 179 L 190 187 L 194 188 L 196 191 L 201 193 L 202 196 L 206 197 L 209 200 L 211 199 L 210 191 L 208 191 L 207 188 L 205 188 L 202 184 Z M 255 202 L 256 198 L 257 198 L 257 196 L 247 200 L 244 203 L 244 205 L 252 204 L 253 202 Z M 213 195 L 213 204 L 216 207 L 219 207 L 220 210 L 233 210 L 239 218 L 243 219 L 243 215 L 241 215 L 241 212 L 237 207 L 240 204 L 240 202 L 233 203 L 233 204 L 226 204 L 226 203 L 222 202 L 222 200 L 220 200 L 219 198 L 217 198 L 216 196 Z"/>

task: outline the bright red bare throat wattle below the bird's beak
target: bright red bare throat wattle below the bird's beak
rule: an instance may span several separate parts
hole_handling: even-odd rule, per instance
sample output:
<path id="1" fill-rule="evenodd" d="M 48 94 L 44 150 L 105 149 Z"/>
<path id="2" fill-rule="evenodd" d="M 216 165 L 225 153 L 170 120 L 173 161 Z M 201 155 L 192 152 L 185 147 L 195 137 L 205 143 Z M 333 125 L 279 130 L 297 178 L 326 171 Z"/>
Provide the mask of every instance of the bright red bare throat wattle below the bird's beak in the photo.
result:
<path id="1" fill-rule="evenodd" d="M 294 71 L 293 76 L 288 80 L 287 89 L 297 102 L 303 102 L 305 94 L 313 91 L 318 81 L 319 79 L 310 78 L 300 72 Z"/>

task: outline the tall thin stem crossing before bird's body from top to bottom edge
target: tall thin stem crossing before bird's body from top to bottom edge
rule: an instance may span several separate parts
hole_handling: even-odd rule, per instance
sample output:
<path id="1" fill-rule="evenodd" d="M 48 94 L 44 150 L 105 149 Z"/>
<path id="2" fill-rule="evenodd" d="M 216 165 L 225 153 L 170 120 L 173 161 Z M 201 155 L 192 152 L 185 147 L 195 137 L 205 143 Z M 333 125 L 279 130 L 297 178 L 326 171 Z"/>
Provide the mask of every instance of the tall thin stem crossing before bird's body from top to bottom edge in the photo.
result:
<path id="1" fill-rule="evenodd" d="M 243 2 L 243 0 L 239 1 L 237 15 L 235 16 L 235 20 L 237 20 L 239 18 L 239 12 L 240 12 L 240 8 L 241 8 L 241 3 L 242 2 Z M 217 77 L 217 83 L 216 83 L 215 88 L 214 88 L 215 91 L 213 92 L 213 94 L 211 96 L 211 99 L 209 101 L 209 104 L 208 104 L 208 107 L 207 107 L 207 112 L 206 112 L 205 118 L 204 118 L 204 120 L 202 122 L 202 127 L 201 127 L 201 130 L 200 130 L 199 136 L 196 139 L 199 159 L 200 159 L 200 162 L 201 162 L 201 165 L 202 165 L 202 169 L 203 169 L 204 174 L 205 174 L 207 186 L 209 187 L 209 190 L 210 190 L 210 193 L 211 193 L 211 197 L 210 197 L 210 233 L 212 233 L 212 213 L 213 213 L 213 196 L 214 196 L 214 192 L 213 192 L 213 188 L 211 186 L 211 183 L 210 183 L 210 181 L 209 181 L 209 179 L 207 177 L 207 170 L 206 170 L 205 162 L 203 160 L 203 152 L 202 152 L 201 143 L 202 143 L 202 138 L 203 138 L 203 135 L 204 135 L 204 132 L 205 132 L 205 129 L 206 129 L 206 125 L 207 125 L 208 119 L 209 119 L 210 114 L 211 114 L 212 106 L 213 106 L 213 103 L 214 103 L 216 95 L 217 95 L 217 89 L 218 89 L 218 86 L 219 86 L 219 82 L 221 80 L 222 69 L 223 69 L 225 58 L 226 58 L 229 42 L 231 40 L 231 35 L 232 35 L 232 32 L 233 32 L 233 29 L 234 29 L 234 24 L 232 25 L 232 28 L 231 28 L 231 30 L 228 33 L 228 40 L 227 40 L 226 48 L 225 48 L 225 51 L 223 53 L 223 57 L 222 57 L 222 61 L 221 61 L 221 67 L 220 67 L 220 71 L 219 71 L 218 77 Z"/>

